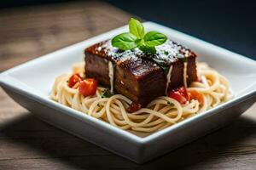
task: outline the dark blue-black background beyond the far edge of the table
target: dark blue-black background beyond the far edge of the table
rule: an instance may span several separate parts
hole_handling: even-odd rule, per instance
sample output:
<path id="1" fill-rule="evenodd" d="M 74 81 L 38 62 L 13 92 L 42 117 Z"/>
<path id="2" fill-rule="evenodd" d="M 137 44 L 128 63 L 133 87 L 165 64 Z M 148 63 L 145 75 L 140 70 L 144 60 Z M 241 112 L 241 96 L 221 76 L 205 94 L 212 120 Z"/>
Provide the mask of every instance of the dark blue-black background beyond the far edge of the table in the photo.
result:
<path id="1" fill-rule="evenodd" d="M 62 2 L 67 0 L 2 0 L 0 10 Z M 106 0 L 106 2 L 145 20 L 170 26 L 256 59 L 256 3 L 253 1 Z"/>

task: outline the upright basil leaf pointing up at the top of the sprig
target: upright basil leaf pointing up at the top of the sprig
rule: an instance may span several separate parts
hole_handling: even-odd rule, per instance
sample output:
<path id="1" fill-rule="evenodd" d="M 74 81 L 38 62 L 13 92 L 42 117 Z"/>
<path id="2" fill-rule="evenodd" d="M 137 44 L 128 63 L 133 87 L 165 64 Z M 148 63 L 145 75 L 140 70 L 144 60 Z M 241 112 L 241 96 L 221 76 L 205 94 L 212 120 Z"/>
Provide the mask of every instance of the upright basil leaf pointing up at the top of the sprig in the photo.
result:
<path id="1" fill-rule="evenodd" d="M 143 38 L 145 35 L 143 24 L 134 18 L 131 18 L 129 21 L 129 31 L 131 34 L 138 38 Z"/>

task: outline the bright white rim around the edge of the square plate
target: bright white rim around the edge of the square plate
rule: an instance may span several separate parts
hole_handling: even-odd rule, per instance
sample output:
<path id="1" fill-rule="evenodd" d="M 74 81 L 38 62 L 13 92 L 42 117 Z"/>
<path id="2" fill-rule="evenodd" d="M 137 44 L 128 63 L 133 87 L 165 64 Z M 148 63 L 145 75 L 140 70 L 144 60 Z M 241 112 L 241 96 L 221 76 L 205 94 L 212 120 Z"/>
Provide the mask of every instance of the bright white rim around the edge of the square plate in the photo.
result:
<path id="1" fill-rule="evenodd" d="M 216 50 L 221 51 L 222 53 L 225 53 L 225 54 L 228 53 L 230 55 L 232 54 L 232 57 L 234 57 L 236 59 L 239 59 L 239 60 L 243 60 L 244 62 L 245 61 L 246 62 L 250 62 L 250 63 L 253 62 L 253 65 L 256 66 L 256 61 L 254 61 L 253 59 L 249 59 L 249 58 L 247 58 L 245 56 L 242 56 L 240 54 L 233 53 L 230 50 L 218 47 L 216 45 L 213 45 L 210 42 L 205 42 L 205 41 L 203 41 L 203 40 L 201 40 L 199 38 L 189 36 L 187 34 L 184 34 L 184 33 L 180 32 L 180 31 L 173 30 L 172 28 L 169 28 L 169 27 L 166 27 L 166 26 L 162 26 L 162 25 L 156 24 L 154 22 L 150 22 L 150 21 L 144 22 L 143 25 L 144 26 L 148 26 L 148 27 L 152 26 L 154 28 L 158 28 L 159 30 L 160 29 L 166 29 L 166 30 L 175 31 L 180 36 L 183 36 L 185 38 L 189 38 L 189 39 L 191 39 L 191 40 L 193 40 L 193 41 L 195 41 L 197 43 L 203 44 L 204 46 L 208 46 L 209 48 L 215 48 Z M 34 89 L 32 89 L 29 86 L 27 86 L 24 82 L 20 82 L 15 77 L 11 77 L 9 75 L 10 73 L 15 72 L 15 71 L 19 71 L 20 69 L 22 69 L 24 67 L 26 68 L 27 65 L 33 65 L 33 63 L 38 63 L 38 62 L 40 62 L 42 60 L 47 60 L 52 54 L 60 53 L 63 50 L 68 50 L 68 49 L 73 48 L 75 46 L 83 45 L 84 42 L 93 44 L 97 40 L 102 39 L 102 37 L 107 37 L 108 34 L 113 34 L 114 32 L 123 30 L 126 26 L 127 25 L 121 26 L 121 27 L 113 29 L 111 31 L 107 31 L 105 33 L 102 33 L 102 34 L 96 36 L 96 37 L 90 37 L 89 39 L 84 40 L 82 42 L 78 42 L 78 43 L 75 43 L 73 45 L 67 46 L 65 48 L 58 49 L 58 50 L 56 50 L 56 51 L 54 51 L 52 53 L 45 54 L 45 55 L 40 56 L 40 57 L 38 57 L 36 59 L 29 60 L 29 61 L 27 61 L 27 62 L 25 62 L 23 64 L 20 64 L 20 65 L 17 65 L 15 67 L 13 67 L 13 68 L 10 68 L 7 71 L 3 71 L 0 74 L 0 85 L 3 85 L 4 87 L 9 88 L 10 90 L 15 91 L 15 93 L 25 95 L 26 97 L 28 97 L 30 99 L 34 99 L 34 100 L 38 101 L 40 104 L 42 104 L 42 105 L 47 105 L 50 108 L 55 109 L 57 111 L 65 112 L 67 115 L 73 116 L 75 118 L 78 118 L 81 121 L 83 121 L 84 123 L 85 123 L 85 120 L 84 120 L 84 118 L 85 118 L 85 119 L 87 119 L 86 122 L 90 122 L 91 124 L 96 123 L 95 126 L 106 127 L 110 132 L 112 131 L 113 133 L 115 133 L 117 135 L 120 135 L 121 137 L 124 137 L 125 139 L 128 139 L 128 140 L 131 140 L 133 142 L 136 142 L 138 144 L 144 144 L 144 143 L 148 143 L 149 141 L 152 141 L 154 139 L 158 139 L 162 135 L 164 135 L 165 133 L 172 133 L 172 131 L 175 131 L 175 130 L 181 128 L 181 127 L 186 126 L 186 124 L 188 124 L 189 122 L 201 121 L 204 118 L 206 118 L 207 116 L 211 116 L 214 113 L 218 113 L 219 111 L 222 111 L 222 110 L 224 110 L 226 108 L 232 107 L 232 105 L 236 105 L 236 103 L 240 103 L 244 99 L 247 99 L 247 98 L 250 98 L 250 97 L 256 95 L 256 80 L 255 80 L 253 82 L 253 84 L 252 84 L 252 86 L 254 85 L 255 88 L 253 88 L 247 94 L 242 94 L 241 96 L 235 97 L 234 99 L 231 99 L 230 101 L 228 101 L 228 102 L 226 102 L 226 103 L 224 103 L 222 105 L 218 105 L 217 107 L 212 108 L 209 111 L 205 111 L 205 112 L 203 112 L 201 114 L 192 116 L 189 119 L 184 120 L 183 122 L 178 122 L 177 124 L 172 125 L 171 127 L 166 127 L 165 129 L 160 130 L 160 131 L 155 132 L 155 133 L 152 133 L 152 134 L 149 134 L 146 137 L 139 137 L 136 134 L 133 134 L 133 133 L 130 133 L 130 132 L 127 132 L 125 130 L 120 129 L 119 127 L 114 127 L 113 125 L 109 124 L 108 122 L 102 122 L 101 120 L 98 120 L 95 117 L 88 116 L 88 115 L 82 113 L 81 111 L 76 111 L 76 110 L 73 110 L 72 108 L 67 107 L 66 105 L 61 105 L 61 104 L 59 104 L 59 103 L 57 103 L 57 102 L 55 102 L 55 101 L 53 101 L 53 100 L 51 100 L 49 98 L 46 99 L 43 96 L 40 96 L 38 94 L 33 94 L 32 92 L 35 91 Z M 17 87 L 17 85 L 20 85 L 23 88 L 19 88 L 19 87 Z"/>

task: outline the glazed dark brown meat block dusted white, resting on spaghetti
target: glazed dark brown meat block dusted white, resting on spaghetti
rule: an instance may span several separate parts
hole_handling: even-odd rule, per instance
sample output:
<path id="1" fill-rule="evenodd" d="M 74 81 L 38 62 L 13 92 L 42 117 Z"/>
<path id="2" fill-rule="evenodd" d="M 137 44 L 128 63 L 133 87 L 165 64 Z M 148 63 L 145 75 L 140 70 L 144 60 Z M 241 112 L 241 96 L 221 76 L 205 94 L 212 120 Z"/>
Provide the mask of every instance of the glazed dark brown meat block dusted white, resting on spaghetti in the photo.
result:
<path id="1" fill-rule="evenodd" d="M 86 77 L 143 106 L 197 80 L 196 54 L 171 40 L 157 46 L 156 54 L 138 48 L 121 51 L 110 40 L 86 48 L 84 54 Z"/>

